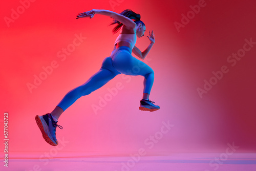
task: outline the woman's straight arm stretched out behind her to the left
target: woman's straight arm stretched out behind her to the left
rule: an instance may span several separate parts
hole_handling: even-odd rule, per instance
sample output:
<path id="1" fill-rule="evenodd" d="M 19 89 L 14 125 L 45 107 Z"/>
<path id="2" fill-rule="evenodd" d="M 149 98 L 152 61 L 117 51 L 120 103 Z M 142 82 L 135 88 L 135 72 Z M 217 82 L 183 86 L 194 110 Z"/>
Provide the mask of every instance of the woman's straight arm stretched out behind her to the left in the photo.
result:
<path id="1" fill-rule="evenodd" d="M 118 22 L 122 23 L 123 25 L 125 25 L 126 27 L 129 28 L 136 28 L 136 23 L 134 23 L 134 21 L 126 16 L 123 16 L 121 14 L 118 14 L 116 12 L 113 11 L 109 11 L 109 10 L 91 10 L 91 11 L 87 11 L 87 12 L 83 12 L 83 13 L 79 13 L 77 15 L 77 18 L 82 18 L 82 17 L 94 17 L 95 14 L 101 14 L 101 15 L 106 15 L 106 16 L 110 16 L 116 20 L 118 20 Z"/>

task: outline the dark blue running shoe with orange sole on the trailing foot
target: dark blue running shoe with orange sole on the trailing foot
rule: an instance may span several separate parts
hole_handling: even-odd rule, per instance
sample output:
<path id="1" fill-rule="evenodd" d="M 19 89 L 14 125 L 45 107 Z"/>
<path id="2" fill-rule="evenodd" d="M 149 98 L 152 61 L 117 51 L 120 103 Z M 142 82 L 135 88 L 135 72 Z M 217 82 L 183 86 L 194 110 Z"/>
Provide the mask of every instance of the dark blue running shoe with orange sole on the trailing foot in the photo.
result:
<path id="1" fill-rule="evenodd" d="M 52 118 L 51 114 L 45 114 L 42 116 L 35 116 L 36 123 L 42 133 L 42 137 L 48 142 L 50 145 L 56 146 L 58 145 L 58 141 L 56 139 L 56 127 L 58 126 L 60 129 L 63 129 L 62 126 L 57 125 Z"/>

